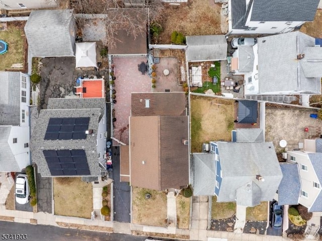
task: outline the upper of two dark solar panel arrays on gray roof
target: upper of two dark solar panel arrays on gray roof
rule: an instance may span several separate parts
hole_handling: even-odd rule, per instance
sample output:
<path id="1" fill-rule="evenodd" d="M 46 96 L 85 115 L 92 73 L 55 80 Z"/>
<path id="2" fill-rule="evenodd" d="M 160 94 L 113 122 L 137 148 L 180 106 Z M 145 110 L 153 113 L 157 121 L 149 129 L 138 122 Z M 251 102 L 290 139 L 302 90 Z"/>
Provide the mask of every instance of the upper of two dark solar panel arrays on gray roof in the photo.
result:
<path id="1" fill-rule="evenodd" d="M 50 118 L 45 140 L 86 139 L 85 131 L 89 128 L 90 117 Z"/>

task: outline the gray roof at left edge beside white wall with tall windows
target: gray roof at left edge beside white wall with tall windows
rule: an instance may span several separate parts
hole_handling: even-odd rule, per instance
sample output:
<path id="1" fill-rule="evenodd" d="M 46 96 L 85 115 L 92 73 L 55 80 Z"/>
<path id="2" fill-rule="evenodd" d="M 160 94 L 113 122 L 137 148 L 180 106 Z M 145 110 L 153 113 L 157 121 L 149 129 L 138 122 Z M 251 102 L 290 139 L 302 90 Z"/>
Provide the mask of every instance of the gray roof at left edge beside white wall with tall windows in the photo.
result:
<path id="1" fill-rule="evenodd" d="M 20 125 L 20 72 L 0 71 L 0 125 Z"/>

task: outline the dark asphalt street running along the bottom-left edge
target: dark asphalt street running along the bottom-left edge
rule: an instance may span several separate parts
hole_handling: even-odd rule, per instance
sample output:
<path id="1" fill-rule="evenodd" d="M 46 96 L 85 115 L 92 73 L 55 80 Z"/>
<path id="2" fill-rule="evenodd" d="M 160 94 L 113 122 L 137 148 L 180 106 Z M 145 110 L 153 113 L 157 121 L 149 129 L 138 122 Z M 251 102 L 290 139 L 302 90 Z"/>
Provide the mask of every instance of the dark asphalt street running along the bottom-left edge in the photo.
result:
<path id="1" fill-rule="evenodd" d="M 8 238 L 9 240 L 32 241 L 144 241 L 146 236 L 134 236 L 120 233 L 95 232 L 72 228 L 62 228 L 47 225 L 33 225 L 28 223 L 16 223 L 0 221 L 0 236 L 3 234 L 27 234 L 26 239 Z M 25 235 L 26 236 L 26 235 Z M 16 236 L 17 237 L 17 236 Z M 4 240 L 2 238 L 1 240 Z M 169 239 L 162 239 L 169 240 Z M 178 240 L 178 239 L 177 239 Z M 180 241 L 180 240 L 179 240 Z"/>

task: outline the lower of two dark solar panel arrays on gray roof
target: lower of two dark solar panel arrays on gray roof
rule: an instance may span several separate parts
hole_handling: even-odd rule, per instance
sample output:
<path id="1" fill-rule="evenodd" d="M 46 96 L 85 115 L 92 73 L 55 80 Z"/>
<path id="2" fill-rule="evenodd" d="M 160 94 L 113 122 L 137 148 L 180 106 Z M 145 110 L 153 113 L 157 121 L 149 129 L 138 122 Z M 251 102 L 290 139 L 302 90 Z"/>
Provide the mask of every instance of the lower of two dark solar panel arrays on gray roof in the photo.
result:
<path id="1" fill-rule="evenodd" d="M 85 150 L 43 150 L 52 176 L 90 175 Z"/>

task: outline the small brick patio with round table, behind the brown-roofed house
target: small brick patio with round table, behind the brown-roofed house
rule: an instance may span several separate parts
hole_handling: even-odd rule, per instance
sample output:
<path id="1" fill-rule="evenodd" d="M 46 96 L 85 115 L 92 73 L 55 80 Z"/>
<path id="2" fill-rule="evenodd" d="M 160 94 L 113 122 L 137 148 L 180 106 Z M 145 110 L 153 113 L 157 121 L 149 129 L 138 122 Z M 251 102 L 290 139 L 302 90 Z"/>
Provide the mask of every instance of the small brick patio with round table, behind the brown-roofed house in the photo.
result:
<path id="1" fill-rule="evenodd" d="M 160 62 L 156 65 L 156 83 L 153 92 L 183 92 L 182 86 L 178 85 L 178 59 L 174 57 L 160 57 Z M 169 75 L 165 76 L 163 71 L 169 70 Z"/>

